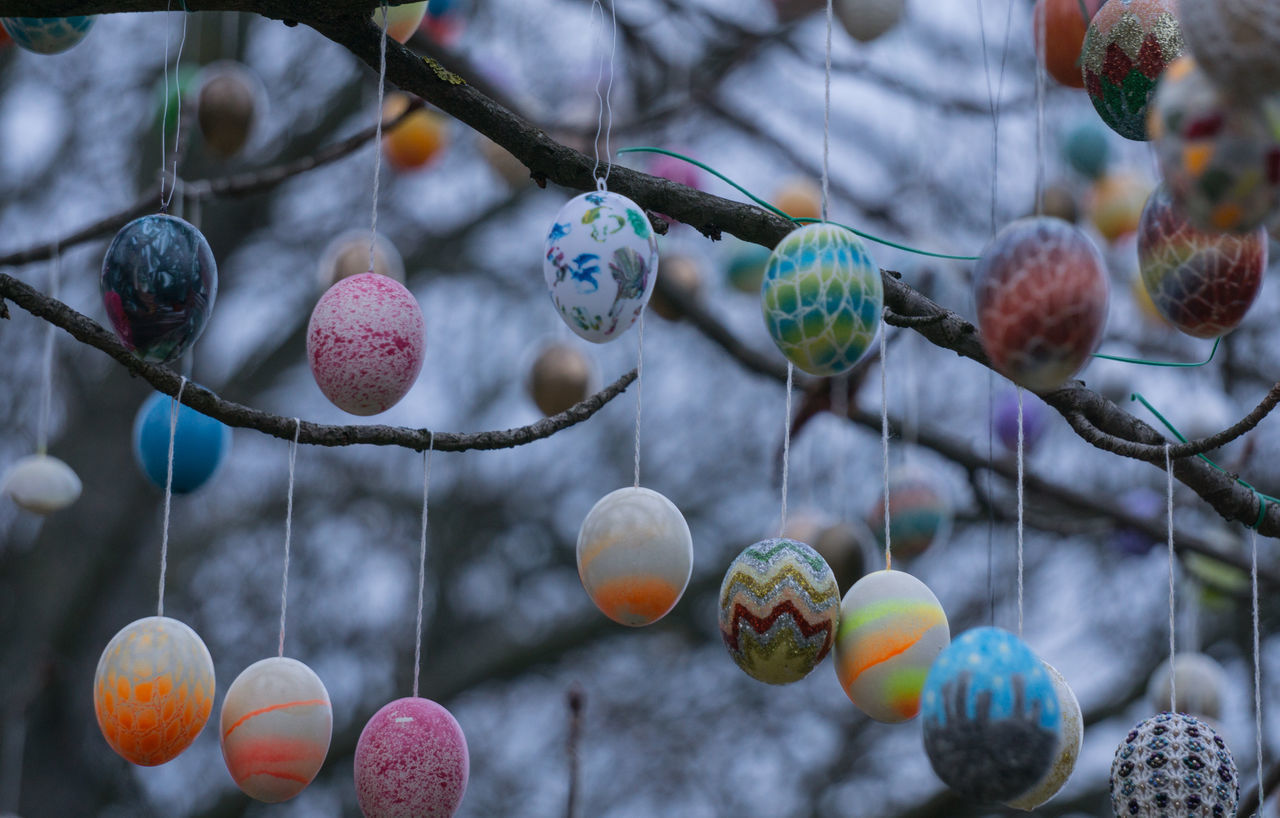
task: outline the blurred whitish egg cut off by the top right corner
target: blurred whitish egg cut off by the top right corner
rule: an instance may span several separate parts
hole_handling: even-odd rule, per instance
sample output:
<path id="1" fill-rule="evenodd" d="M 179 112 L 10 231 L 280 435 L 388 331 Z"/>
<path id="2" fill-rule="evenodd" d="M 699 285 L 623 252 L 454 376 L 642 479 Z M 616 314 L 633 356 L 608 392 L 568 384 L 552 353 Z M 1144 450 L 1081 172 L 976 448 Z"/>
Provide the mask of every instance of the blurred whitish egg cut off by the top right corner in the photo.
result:
<path id="1" fill-rule="evenodd" d="M 1280 90 L 1280 5 L 1275 0 L 1179 0 L 1187 49 L 1240 99 Z"/>

